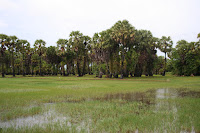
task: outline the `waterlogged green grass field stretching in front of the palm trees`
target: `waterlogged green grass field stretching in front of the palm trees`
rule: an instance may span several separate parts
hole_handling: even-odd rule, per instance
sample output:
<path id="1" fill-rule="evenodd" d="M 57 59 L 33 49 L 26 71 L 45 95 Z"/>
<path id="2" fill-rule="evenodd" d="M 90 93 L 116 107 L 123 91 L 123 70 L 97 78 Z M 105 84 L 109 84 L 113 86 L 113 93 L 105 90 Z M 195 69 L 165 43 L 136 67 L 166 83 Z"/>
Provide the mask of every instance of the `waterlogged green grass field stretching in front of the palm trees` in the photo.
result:
<path id="1" fill-rule="evenodd" d="M 0 132 L 200 132 L 200 77 L 0 78 Z"/>

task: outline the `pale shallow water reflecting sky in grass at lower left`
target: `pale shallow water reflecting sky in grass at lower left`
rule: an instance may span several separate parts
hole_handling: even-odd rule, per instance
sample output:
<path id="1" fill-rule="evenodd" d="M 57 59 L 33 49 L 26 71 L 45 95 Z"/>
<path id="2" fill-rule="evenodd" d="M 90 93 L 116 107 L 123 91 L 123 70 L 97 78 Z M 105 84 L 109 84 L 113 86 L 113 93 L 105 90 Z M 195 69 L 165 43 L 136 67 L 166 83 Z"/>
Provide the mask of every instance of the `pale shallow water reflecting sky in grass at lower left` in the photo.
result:
<path id="1" fill-rule="evenodd" d="M 45 128 L 48 124 L 56 123 L 59 124 L 59 127 L 61 128 L 65 126 L 71 129 L 73 124 L 70 121 L 70 117 L 63 116 L 62 114 L 56 112 L 53 107 L 54 105 L 55 103 L 45 103 L 44 106 L 46 106 L 46 108 L 49 107 L 49 110 L 39 115 L 21 117 L 5 122 L 0 121 L 0 128 L 19 129 L 23 127 L 31 128 L 34 126 Z M 88 123 L 86 124 L 85 121 L 81 121 L 80 123 L 76 124 L 76 130 L 79 132 L 85 128 L 87 128 L 86 130 L 89 131 Z"/>

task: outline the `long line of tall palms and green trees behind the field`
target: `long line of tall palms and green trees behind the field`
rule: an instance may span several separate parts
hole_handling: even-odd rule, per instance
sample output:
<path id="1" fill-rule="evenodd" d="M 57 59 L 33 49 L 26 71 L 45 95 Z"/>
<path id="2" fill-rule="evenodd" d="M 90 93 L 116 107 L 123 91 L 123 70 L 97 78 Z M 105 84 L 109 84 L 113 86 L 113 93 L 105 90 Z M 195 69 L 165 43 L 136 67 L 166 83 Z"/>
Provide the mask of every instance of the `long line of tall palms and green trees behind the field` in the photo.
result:
<path id="1" fill-rule="evenodd" d="M 5 34 L 0 34 L 0 45 L 2 77 L 95 74 L 99 78 L 123 78 L 142 74 L 165 76 L 166 71 L 200 75 L 200 39 L 181 40 L 172 48 L 170 37 L 154 37 L 148 30 L 137 30 L 127 20 L 118 21 L 92 38 L 72 31 L 69 39 L 58 39 L 57 46 L 46 47 L 46 42 L 39 39 L 31 47 L 27 40 Z M 157 56 L 157 49 L 165 57 Z"/>

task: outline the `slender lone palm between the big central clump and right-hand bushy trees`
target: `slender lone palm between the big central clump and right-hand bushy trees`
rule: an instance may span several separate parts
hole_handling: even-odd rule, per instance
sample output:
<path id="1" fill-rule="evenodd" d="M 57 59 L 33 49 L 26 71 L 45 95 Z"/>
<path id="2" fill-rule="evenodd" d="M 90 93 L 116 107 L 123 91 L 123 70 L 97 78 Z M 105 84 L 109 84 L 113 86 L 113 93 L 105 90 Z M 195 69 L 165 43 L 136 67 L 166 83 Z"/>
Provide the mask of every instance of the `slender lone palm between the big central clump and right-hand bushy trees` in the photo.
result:
<path id="1" fill-rule="evenodd" d="M 166 54 L 171 52 L 172 50 L 172 45 L 173 45 L 173 41 L 171 40 L 170 36 L 166 37 L 166 36 L 162 36 L 162 38 L 159 41 L 159 49 L 160 51 L 165 53 L 165 66 L 164 66 L 164 72 L 163 72 L 163 76 L 165 76 L 165 71 L 166 71 L 166 63 L 167 63 L 167 58 L 166 58 Z"/>

